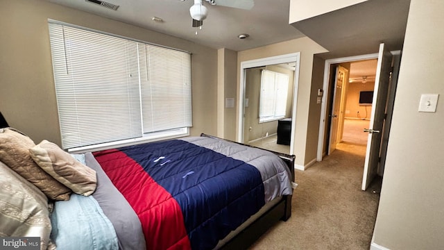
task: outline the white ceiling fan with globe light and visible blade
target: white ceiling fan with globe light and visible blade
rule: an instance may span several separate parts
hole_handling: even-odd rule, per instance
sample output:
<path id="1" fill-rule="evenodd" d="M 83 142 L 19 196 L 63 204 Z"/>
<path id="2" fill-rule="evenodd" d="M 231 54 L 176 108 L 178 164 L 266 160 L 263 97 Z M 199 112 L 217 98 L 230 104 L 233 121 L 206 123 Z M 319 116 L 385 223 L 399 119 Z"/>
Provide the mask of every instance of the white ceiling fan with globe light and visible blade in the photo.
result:
<path id="1" fill-rule="evenodd" d="M 251 10 L 255 6 L 254 0 L 205 0 L 213 6 L 226 6 L 231 8 L 240 8 Z M 203 0 L 194 0 L 194 5 L 189 8 L 189 14 L 193 19 L 192 26 L 200 27 L 203 20 L 207 18 L 208 9 L 203 5 Z"/>

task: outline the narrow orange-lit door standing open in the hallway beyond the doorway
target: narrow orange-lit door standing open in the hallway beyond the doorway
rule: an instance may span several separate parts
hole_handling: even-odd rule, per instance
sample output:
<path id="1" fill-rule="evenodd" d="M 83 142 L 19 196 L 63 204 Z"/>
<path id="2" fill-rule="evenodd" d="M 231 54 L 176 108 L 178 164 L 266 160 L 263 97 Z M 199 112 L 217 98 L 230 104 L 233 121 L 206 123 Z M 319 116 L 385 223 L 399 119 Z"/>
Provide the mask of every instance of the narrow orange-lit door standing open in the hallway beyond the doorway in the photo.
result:
<path id="1" fill-rule="evenodd" d="M 339 136 L 340 129 L 342 126 L 341 122 L 341 100 L 343 99 L 343 88 L 345 86 L 345 76 L 348 70 L 344 67 L 336 67 L 336 76 L 334 78 L 334 93 L 333 93 L 333 103 L 332 103 L 332 115 L 330 115 L 330 143 L 328 147 L 328 154 L 332 153 L 336 149 L 336 144 L 338 140 L 341 140 Z"/>

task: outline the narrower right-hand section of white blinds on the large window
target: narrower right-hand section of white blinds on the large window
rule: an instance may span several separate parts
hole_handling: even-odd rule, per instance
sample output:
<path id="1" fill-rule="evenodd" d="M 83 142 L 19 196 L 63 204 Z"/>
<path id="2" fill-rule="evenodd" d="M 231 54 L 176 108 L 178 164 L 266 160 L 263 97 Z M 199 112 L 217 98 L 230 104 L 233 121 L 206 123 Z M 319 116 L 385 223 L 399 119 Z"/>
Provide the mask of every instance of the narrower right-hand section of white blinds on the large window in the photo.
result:
<path id="1" fill-rule="evenodd" d="M 183 63 L 189 54 L 149 44 L 141 52 L 144 133 L 191 125 L 191 64 Z"/>

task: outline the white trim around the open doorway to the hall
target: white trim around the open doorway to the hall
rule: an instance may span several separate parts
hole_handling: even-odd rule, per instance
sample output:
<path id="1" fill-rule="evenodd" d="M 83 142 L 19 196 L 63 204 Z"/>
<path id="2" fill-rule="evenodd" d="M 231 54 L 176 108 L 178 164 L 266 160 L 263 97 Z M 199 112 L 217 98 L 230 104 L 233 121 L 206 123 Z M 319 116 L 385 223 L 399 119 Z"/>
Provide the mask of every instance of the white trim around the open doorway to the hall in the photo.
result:
<path id="1" fill-rule="evenodd" d="M 325 120 L 327 119 L 327 97 L 328 97 L 328 83 L 330 80 L 330 65 L 336 63 L 347 63 L 357 60 L 377 59 L 378 53 L 366 54 L 361 56 L 348 56 L 344 58 L 332 58 L 325 60 L 324 66 L 324 83 L 323 83 L 323 97 L 321 103 L 321 121 L 319 122 L 319 137 L 318 137 L 318 151 L 316 160 L 322 161 L 323 156 L 323 144 L 325 135 Z"/>

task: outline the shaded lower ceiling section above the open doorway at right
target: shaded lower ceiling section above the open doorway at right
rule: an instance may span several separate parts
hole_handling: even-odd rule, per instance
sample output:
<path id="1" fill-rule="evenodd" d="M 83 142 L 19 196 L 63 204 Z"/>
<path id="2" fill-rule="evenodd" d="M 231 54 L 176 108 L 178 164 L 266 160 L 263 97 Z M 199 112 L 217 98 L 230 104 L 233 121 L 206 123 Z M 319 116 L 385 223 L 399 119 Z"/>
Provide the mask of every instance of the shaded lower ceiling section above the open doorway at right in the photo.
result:
<path id="1" fill-rule="evenodd" d="M 322 58 L 377 53 L 384 42 L 391 51 L 402 49 L 410 0 L 368 0 L 292 24 L 329 50 Z"/>

